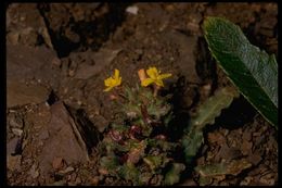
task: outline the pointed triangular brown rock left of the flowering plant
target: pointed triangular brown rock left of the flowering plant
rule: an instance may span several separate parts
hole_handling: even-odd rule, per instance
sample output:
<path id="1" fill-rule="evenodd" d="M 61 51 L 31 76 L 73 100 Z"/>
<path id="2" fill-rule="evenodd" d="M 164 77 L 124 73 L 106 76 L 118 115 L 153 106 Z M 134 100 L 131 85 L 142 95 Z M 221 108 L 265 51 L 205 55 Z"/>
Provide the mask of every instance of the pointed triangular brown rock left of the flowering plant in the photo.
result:
<path id="1" fill-rule="evenodd" d="M 39 168 L 44 175 L 52 168 L 54 158 L 62 158 L 67 164 L 89 161 L 86 143 L 64 104 L 56 102 L 50 110 L 47 126 L 50 136 L 39 154 Z"/>

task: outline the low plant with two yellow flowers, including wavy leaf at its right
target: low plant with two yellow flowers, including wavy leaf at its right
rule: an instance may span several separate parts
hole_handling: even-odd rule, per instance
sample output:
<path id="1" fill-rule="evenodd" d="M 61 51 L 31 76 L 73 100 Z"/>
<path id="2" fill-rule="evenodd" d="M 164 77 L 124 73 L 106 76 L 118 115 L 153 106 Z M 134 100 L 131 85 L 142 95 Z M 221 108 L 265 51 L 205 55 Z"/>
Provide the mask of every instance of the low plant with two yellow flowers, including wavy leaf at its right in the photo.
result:
<path id="1" fill-rule="evenodd" d="M 196 116 L 183 131 L 182 140 L 168 138 L 174 118 L 169 97 L 161 97 L 163 79 L 171 74 L 161 74 L 156 67 L 138 72 L 141 87 L 130 88 L 121 84 L 119 71 L 105 79 L 104 91 L 123 112 L 121 123 L 113 122 L 101 143 L 100 173 L 103 176 L 131 181 L 132 185 L 174 185 L 180 180 L 181 172 L 191 164 L 203 142 L 203 128 L 213 124 L 223 108 L 229 106 L 238 92 L 223 88 L 200 108 Z M 149 86 L 149 87 L 148 87 Z M 185 161 L 178 161 L 183 153 Z M 177 156 L 177 158 L 176 158 Z"/>

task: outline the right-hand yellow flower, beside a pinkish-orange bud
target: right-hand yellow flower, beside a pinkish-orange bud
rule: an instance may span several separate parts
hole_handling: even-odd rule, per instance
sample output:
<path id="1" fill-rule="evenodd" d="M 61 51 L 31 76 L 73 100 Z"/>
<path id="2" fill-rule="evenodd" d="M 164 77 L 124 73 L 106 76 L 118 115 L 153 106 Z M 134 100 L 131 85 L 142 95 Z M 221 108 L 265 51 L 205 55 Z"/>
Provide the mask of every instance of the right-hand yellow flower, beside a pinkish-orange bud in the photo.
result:
<path id="1" fill-rule="evenodd" d="M 143 87 L 146 87 L 153 83 L 157 86 L 164 87 L 163 79 L 171 76 L 171 74 L 161 74 L 161 71 L 156 67 L 149 67 L 149 70 L 146 70 L 146 74 L 149 75 L 149 78 L 141 82 L 141 86 Z"/>

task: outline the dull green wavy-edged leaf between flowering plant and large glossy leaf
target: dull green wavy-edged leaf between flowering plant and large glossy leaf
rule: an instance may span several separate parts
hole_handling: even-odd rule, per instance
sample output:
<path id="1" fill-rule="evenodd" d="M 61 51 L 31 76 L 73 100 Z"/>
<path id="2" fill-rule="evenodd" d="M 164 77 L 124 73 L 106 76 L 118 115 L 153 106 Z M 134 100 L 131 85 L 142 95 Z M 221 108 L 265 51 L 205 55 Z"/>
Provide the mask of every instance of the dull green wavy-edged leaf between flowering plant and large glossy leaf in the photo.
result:
<path id="1" fill-rule="evenodd" d="M 182 146 L 188 164 L 191 163 L 203 143 L 203 128 L 208 124 L 214 124 L 215 118 L 220 115 L 221 110 L 228 108 L 235 97 L 239 97 L 239 92 L 234 88 L 220 88 L 213 97 L 201 104 L 196 115 L 191 117 L 190 124 L 184 130 L 182 138 Z"/>

